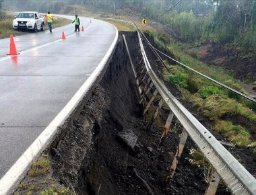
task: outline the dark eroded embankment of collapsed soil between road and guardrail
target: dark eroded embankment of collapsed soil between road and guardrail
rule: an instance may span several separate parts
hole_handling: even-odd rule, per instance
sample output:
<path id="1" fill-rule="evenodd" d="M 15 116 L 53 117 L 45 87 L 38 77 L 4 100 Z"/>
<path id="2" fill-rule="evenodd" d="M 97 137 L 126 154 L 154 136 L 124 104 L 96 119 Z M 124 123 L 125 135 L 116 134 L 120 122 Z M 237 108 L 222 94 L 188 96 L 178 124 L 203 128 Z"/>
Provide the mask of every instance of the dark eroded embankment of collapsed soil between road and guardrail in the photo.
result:
<path id="1" fill-rule="evenodd" d="M 166 184 L 168 169 L 179 143 L 178 133 L 182 129 L 168 133 L 158 150 L 162 128 L 147 128 L 143 119 L 143 108 L 139 105 L 139 93 L 122 34 L 119 35 L 119 43 L 106 74 L 90 101 L 57 147 L 51 149 L 49 174 L 39 176 L 40 181 L 34 183 L 34 177 L 28 176 L 16 194 L 40 194 L 42 190 L 49 192 L 47 189 L 53 188 L 53 185 L 64 185 L 69 188 L 67 193 L 71 194 L 205 192 L 204 167 L 192 167 L 187 160 L 193 145 L 190 140 L 172 182 Z M 126 32 L 125 36 L 133 61 L 139 65 L 141 54 L 137 33 Z M 154 104 L 156 106 L 158 102 Z M 174 126 L 178 123 L 174 120 Z M 130 147 L 124 143 L 125 136 Z M 49 178 L 53 178 L 53 182 L 45 185 Z M 31 183 L 42 188 L 30 189 L 27 184 Z M 53 188 L 52 191 L 57 190 Z"/>

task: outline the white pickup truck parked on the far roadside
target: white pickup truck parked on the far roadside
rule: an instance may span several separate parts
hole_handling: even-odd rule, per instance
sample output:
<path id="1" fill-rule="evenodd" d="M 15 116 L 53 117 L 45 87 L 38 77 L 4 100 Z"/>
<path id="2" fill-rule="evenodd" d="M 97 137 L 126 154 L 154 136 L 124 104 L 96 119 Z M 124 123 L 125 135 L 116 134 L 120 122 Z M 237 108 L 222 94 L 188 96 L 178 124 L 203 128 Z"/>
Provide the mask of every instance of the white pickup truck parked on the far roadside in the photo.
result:
<path id="1" fill-rule="evenodd" d="M 13 28 L 17 30 L 44 31 L 44 17 L 38 12 L 20 12 L 13 20 Z"/>

